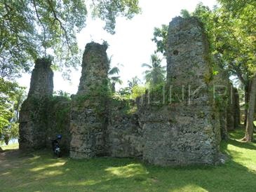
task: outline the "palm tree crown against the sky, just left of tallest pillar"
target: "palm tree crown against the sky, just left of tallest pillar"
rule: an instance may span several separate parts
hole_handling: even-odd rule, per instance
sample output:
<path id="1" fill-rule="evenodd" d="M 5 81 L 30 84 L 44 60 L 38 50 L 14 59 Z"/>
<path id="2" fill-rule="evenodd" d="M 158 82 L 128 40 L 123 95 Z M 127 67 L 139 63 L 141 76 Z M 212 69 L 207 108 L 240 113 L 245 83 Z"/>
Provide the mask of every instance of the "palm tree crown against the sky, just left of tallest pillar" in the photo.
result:
<path id="1" fill-rule="evenodd" d="M 142 67 L 147 67 L 148 70 L 144 71 L 144 78 L 149 85 L 158 85 L 166 78 L 166 67 L 161 66 L 161 58 L 158 55 L 151 55 L 151 65 L 144 63 Z"/>

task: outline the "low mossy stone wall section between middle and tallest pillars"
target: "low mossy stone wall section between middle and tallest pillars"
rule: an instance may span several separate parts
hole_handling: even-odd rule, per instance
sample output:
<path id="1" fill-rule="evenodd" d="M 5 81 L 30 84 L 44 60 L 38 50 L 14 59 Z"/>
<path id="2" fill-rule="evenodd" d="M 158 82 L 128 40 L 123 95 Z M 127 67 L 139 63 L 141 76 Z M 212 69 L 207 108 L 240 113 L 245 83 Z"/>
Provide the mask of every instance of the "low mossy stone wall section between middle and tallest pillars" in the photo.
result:
<path id="1" fill-rule="evenodd" d="M 138 115 L 129 113 L 128 101 L 114 101 L 110 103 L 109 125 L 107 127 L 107 144 L 109 156 L 113 157 L 141 157 L 143 142 L 142 128 Z M 131 104 L 136 107 L 135 104 Z"/>

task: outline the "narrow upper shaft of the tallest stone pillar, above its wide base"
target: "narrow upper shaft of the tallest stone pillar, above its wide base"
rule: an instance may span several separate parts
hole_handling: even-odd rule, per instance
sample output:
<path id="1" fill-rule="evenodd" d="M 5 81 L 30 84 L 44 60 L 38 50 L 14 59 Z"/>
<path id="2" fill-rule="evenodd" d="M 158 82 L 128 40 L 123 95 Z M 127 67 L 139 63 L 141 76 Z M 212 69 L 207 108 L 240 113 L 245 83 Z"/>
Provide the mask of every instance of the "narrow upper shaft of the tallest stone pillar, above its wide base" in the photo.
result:
<path id="1" fill-rule="evenodd" d="M 191 90 L 205 85 L 207 78 L 210 78 L 206 57 L 208 43 L 201 23 L 196 18 L 174 18 L 168 31 L 168 85 L 175 85 L 177 88 L 191 85 Z"/>

